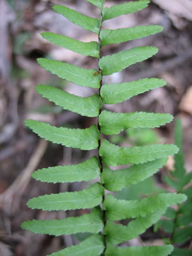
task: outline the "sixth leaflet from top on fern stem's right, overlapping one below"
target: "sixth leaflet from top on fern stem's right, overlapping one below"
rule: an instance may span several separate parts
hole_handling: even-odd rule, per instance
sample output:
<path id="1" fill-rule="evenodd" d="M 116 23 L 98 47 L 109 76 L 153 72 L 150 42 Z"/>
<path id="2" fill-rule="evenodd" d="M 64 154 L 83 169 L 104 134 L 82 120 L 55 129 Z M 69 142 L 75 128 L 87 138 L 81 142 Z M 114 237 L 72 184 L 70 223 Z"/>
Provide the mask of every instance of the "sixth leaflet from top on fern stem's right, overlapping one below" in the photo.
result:
<path id="1" fill-rule="evenodd" d="M 99 154 L 106 165 L 125 165 L 127 163 L 145 163 L 159 158 L 166 158 L 178 152 L 175 145 L 157 144 L 124 148 L 102 140 Z"/>

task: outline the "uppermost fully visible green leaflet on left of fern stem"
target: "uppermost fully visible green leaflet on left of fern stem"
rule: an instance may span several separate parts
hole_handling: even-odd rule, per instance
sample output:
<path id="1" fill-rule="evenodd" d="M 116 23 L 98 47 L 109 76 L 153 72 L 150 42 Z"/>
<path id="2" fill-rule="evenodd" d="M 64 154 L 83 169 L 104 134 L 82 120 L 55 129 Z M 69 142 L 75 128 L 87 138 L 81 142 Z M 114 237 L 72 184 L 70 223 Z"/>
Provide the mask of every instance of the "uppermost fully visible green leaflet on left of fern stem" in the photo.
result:
<path id="1" fill-rule="evenodd" d="M 89 16 L 85 16 L 73 9 L 69 9 L 63 5 L 54 5 L 52 7 L 54 11 L 62 14 L 67 20 L 70 20 L 77 26 L 84 28 L 85 30 L 89 30 L 94 33 L 100 32 L 100 20 L 98 18 L 91 18 Z"/>

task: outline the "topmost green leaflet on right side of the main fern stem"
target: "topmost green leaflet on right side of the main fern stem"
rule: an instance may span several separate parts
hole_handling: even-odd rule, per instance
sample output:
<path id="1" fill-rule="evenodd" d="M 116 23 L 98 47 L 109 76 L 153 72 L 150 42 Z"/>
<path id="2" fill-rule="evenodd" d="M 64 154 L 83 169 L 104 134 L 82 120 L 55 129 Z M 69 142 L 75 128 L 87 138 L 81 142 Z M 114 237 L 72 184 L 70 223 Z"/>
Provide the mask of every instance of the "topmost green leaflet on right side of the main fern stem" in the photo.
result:
<path id="1" fill-rule="evenodd" d="M 106 7 L 102 12 L 103 14 L 102 21 L 109 20 L 117 16 L 130 14 L 132 12 L 140 11 L 142 9 L 145 9 L 148 3 L 149 3 L 149 0 L 144 0 L 144 1 L 123 3 L 122 5 L 113 5 L 111 8 Z"/>

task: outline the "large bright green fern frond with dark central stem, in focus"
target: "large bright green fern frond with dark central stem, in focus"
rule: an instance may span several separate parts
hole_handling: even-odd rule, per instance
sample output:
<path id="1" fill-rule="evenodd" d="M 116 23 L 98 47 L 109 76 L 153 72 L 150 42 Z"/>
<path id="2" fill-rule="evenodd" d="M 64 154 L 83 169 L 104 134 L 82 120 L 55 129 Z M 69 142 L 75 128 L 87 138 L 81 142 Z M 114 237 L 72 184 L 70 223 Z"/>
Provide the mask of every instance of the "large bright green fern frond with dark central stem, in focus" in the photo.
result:
<path id="1" fill-rule="evenodd" d="M 150 146 L 120 147 L 112 144 L 104 135 L 117 135 L 128 128 L 154 128 L 172 121 L 170 114 L 145 112 L 113 113 L 103 110 L 104 104 L 115 104 L 128 100 L 145 91 L 163 87 L 162 79 L 145 78 L 130 83 L 103 84 L 102 77 L 127 68 L 137 62 L 147 60 L 157 53 L 155 47 L 135 47 L 119 53 L 102 56 L 105 45 L 123 43 L 161 32 L 161 26 L 137 26 L 117 30 L 102 29 L 105 20 L 144 9 L 148 0 L 134 1 L 104 8 L 104 0 L 87 0 L 100 9 L 100 19 L 91 18 L 64 6 L 54 6 L 54 11 L 62 14 L 74 24 L 96 33 L 98 42 L 83 43 L 65 35 L 43 33 L 48 41 L 73 52 L 98 58 L 97 69 L 85 69 L 72 64 L 39 58 L 38 63 L 52 74 L 84 87 L 98 89 L 98 94 L 87 98 L 71 95 L 50 85 L 39 85 L 37 93 L 56 105 L 76 112 L 81 116 L 98 117 L 96 124 L 86 129 L 54 127 L 47 123 L 27 120 L 26 125 L 41 138 L 81 150 L 98 150 L 98 156 L 77 165 L 50 167 L 33 173 L 33 178 L 43 182 L 81 182 L 100 177 L 100 182 L 77 192 L 64 192 L 32 198 L 28 206 L 32 209 L 71 210 L 92 209 L 79 217 L 60 220 L 33 220 L 22 223 L 22 228 L 35 233 L 60 236 L 89 232 L 86 240 L 67 247 L 52 256 L 118 256 L 156 255 L 166 256 L 172 252 L 172 245 L 152 247 L 115 247 L 122 242 L 136 238 L 149 226 L 156 223 L 172 204 L 181 203 L 183 194 L 159 194 L 142 200 L 117 200 L 111 192 L 121 190 L 130 184 L 144 181 L 163 167 L 169 155 L 176 154 L 178 148 L 170 144 Z M 113 171 L 109 166 L 131 164 L 126 169 Z M 128 225 L 118 223 L 128 219 Z M 116 221 L 116 223 L 114 223 Z"/>

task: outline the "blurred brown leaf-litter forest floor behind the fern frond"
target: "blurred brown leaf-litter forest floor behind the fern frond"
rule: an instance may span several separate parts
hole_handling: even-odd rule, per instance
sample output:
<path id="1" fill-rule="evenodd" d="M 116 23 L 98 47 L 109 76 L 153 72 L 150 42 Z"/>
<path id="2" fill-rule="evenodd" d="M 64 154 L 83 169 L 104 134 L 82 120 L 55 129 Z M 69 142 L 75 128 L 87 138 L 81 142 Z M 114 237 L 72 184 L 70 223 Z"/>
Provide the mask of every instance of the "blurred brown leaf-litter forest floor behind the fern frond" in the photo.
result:
<path id="1" fill-rule="evenodd" d="M 106 6 L 128 1 L 106 0 Z M 85 188 L 80 184 L 48 184 L 34 181 L 31 173 L 36 169 L 55 165 L 75 164 L 96 154 L 64 148 L 39 139 L 24 126 L 31 118 L 52 125 L 85 128 L 96 119 L 81 117 L 62 110 L 37 95 L 35 86 L 40 83 L 55 85 L 79 96 L 95 93 L 62 80 L 41 68 L 36 59 L 45 57 L 69 62 L 83 68 L 96 68 L 94 58 L 56 47 L 45 41 L 41 32 L 54 32 L 79 39 L 97 41 L 94 33 L 85 31 L 52 11 L 52 5 L 67 5 L 73 9 L 98 16 L 98 10 L 83 0 L 0 0 L 0 255 L 47 255 L 62 247 L 77 244 L 84 236 L 35 235 L 20 228 L 30 219 L 61 219 L 86 213 L 86 210 L 47 212 L 31 210 L 26 206 L 29 198 L 43 194 L 73 191 Z M 166 87 L 138 95 L 122 104 L 105 106 L 115 112 L 164 112 L 180 116 L 183 124 L 183 150 L 185 167 L 192 169 L 192 1 L 152 0 L 150 6 L 127 16 L 104 23 L 105 28 L 125 28 L 138 25 L 160 24 L 162 33 L 128 43 L 103 48 L 104 55 L 131 47 L 153 45 L 159 53 L 153 58 L 130 66 L 121 73 L 104 77 L 105 83 L 120 83 L 144 77 L 166 80 Z M 160 129 L 125 131 L 108 138 L 121 146 L 172 143 L 174 122 Z M 117 194 L 121 199 L 138 199 L 169 189 L 163 177 L 172 169 L 170 158 L 166 167 L 155 179 L 147 179 L 138 187 L 130 187 Z M 163 232 L 163 231 L 162 231 Z M 161 230 L 153 234 L 148 230 L 131 245 L 163 244 Z M 189 242 L 190 245 L 190 242 Z M 188 246 L 189 247 L 189 246 Z"/>

